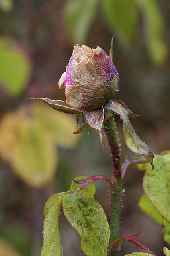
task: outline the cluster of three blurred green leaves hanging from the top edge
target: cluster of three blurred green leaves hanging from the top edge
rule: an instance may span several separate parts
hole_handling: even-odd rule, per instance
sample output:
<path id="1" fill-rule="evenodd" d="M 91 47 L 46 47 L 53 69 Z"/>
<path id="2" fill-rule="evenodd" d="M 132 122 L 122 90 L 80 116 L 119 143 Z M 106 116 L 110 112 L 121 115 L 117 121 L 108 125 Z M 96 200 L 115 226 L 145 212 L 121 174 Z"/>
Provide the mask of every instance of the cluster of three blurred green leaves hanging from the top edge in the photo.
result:
<path id="1" fill-rule="evenodd" d="M 96 16 L 98 1 L 68 0 L 64 8 L 66 29 L 74 44 L 84 44 L 88 30 Z M 162 64 L 168 56 L 168 48 L 163 41 L 164 20 L 156 0 L 102 0 L 99 2 L 101 16 L 107 28 L 121 42 L 123 48 L 134 46 L 141 29 L 150 59 Z M 125 47 L 126 46 L 126 47 Z"/>

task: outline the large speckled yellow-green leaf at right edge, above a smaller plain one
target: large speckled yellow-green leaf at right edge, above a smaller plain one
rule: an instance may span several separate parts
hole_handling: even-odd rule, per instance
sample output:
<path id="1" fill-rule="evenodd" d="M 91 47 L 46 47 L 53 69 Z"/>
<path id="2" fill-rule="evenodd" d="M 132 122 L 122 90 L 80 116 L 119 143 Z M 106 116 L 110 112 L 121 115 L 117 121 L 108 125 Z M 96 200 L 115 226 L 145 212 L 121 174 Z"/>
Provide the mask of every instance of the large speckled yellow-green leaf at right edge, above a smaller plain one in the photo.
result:
<path id="1" fill-rule="evenodd" d="M 153 206 L 170 222 L 170 154 L 156 155 L 153 164 L 154 170 L 146 168 L 143 188 Z"/>

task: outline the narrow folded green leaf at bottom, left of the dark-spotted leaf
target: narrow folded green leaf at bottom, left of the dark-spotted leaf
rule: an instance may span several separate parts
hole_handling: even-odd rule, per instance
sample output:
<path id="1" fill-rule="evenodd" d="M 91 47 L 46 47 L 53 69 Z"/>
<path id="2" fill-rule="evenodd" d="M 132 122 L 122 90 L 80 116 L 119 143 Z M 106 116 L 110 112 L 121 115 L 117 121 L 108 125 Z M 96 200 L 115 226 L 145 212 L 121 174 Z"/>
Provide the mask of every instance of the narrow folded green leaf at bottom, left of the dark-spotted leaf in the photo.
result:
<path id="1" fill-rule="evenodd" d="M 43 228 L 43 247 L 41 256 L 62 256 L 60 239 L 60 210 L 64 196 L 60 197 L 47 212 Z"/>

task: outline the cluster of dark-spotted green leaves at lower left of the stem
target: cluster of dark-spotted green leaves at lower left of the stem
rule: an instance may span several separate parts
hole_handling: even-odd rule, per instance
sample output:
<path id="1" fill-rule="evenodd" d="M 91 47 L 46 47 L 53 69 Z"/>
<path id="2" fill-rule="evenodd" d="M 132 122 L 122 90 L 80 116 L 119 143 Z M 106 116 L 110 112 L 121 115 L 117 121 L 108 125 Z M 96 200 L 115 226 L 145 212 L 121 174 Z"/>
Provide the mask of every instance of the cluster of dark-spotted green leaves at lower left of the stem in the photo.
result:
<path id="1" fill-rule="evenodd" d="M 88 176 L 78 176 L 74 180 L 87 179 Z M 81 186 L 72 181 L 70 191 Z M 63 202 L 63 211 L 68 222 L 81 236 L 81 249 L 89 256 L 106 256 L 110 229 L 102 206 L 94 200 L 95 184 L 89 183 L 82 192 L 54 194 L 44 207 L 44 242 L 41 256 L 62 255 L 59 235 L 59 213 Z M 91 196 L 90 196 L 91 195 Z M 57 241 L 58 239 L 58 241 Z"/>

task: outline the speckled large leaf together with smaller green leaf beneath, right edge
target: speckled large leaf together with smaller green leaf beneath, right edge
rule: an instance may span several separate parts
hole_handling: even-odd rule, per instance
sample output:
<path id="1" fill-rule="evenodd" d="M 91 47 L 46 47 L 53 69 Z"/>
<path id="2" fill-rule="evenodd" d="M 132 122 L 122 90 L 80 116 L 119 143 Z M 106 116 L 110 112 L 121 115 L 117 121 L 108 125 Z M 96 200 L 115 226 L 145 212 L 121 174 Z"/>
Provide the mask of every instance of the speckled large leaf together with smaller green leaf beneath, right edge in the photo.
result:
<path id="1" fill-rule="evenodd" d="M 146 168 L 143 179 L 146 196 L 141 197 L 139 206 L 162 225 L 164 240 L 170 244 L 170 151 L 154 157 L 153 170 L 148 164 L 143 166 Z"/>

